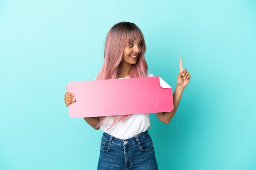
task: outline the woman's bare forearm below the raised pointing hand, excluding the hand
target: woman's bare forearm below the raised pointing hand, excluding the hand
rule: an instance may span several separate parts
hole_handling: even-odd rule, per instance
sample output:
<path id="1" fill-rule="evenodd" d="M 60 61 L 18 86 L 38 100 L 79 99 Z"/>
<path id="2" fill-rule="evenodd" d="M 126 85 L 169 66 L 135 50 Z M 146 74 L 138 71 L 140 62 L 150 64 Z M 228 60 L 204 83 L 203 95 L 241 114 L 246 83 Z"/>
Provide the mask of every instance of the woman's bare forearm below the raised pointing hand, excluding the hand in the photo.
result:
<path id="1" fill-rule="evenodd" d="M 180 104 L 180 99 L 181 99 L 183 90 L 184 90 L 184 87 L 181 87 L 179 85 L 176 86 L 175 91 L 173 93 L 173 110 L 172 111 L 157 113 L 157 118 L 161 122 L 168 124 L 171 121 Z"/>

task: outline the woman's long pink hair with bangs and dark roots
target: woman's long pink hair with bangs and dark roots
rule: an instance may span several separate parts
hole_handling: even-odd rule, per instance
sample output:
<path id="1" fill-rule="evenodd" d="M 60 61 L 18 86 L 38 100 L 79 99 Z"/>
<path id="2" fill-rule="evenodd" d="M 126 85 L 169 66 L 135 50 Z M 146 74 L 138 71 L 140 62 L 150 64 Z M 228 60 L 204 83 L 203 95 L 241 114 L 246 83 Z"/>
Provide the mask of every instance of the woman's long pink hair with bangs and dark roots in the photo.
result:
<path id="1" fill-rule="evenodd" d="M 135 24 L 130 22 L 119 22 L 112 26 L 108 31 L 105 42 L 104 62 L 96 80 L 115 79 L 118 77 L 120 73 L 119 71 L 121 70 L 120 68 L 122 67 L 121 61 L 126 40 L 128 39 L 128 43 L 131 43 L 137 37 L 141 40 L 141 54 L 137 59 L 137 63 L 132 65 L 130 78 L 146 77 L 148 65 L 144 57 L 146 52 L 144 36 Z M 130 116 L 131 115 L 124 115 L 119 121 L 126 120 Z M 111 124 L 110 128 L 117 120 L 117 116 L 113 116 L 113 119 L 114 122 Z M 97 127 L 100 127 L 105 120 L 106 117 L 99 117 L 99 124 Z"/>

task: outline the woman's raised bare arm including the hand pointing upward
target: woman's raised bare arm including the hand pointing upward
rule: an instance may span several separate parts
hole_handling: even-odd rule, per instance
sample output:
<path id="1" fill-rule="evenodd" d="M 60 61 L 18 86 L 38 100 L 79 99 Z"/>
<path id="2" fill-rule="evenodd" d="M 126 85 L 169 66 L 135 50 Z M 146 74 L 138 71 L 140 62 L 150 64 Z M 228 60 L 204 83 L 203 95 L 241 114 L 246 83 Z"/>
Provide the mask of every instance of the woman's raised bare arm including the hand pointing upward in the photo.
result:
<path id="1" fill-rule="evenodd" d="M 180 99 L 182 96 L 182 92 L 185 87 L 189 84 L 190 74 L 187 72 L 186 68 L 182 70 L 182 59 L 180 59 L 180 73 L 177 76 L 177 86 L 173 93 L 173 111 L 171 112 L 163 112 L 156 113 L 157 118 L 166 124 L 168 124 L 176 113 L 178 106 L 180 104 Z"/>

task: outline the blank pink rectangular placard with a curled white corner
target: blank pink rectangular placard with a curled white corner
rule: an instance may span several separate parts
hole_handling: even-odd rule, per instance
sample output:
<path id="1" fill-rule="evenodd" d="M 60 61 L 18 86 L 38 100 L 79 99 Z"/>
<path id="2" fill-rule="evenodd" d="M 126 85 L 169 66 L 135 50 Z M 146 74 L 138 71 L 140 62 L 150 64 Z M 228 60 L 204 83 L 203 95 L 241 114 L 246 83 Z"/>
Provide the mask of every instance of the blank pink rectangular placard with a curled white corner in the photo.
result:
<path id="1" fill-rule="evenodd" d="M 86 118 L 172 111 L 173 91 L 163 82 L 160 77 L 70 82 L 68 91 L 76 102 L 69 105 L 69 115 Z"/>

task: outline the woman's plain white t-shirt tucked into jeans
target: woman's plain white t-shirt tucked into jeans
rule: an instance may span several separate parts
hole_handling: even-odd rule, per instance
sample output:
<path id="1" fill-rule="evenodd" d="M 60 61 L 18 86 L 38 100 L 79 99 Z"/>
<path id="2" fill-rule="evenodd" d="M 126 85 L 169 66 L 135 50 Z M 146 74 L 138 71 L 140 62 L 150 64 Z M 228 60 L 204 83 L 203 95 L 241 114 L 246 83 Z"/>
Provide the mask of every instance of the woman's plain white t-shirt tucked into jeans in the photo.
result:
<path id="1" fill-rule="evenodd" d="M 147 73 L 147 77 L 153 77 L 152 73 Z M 130 78 L 130 77 L 126 77 Z M 149 114 L 133 114 L 126 120 L 119 121 L 122 115 L 116 116 L 114 125 L 108 129 L 115 118 L 115 116 L 106 116 L 105 122 L 101 125 L 100 129 L 119 139 L 128 139 L 144 132 L 150 126 Z"/>

